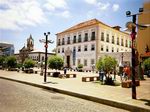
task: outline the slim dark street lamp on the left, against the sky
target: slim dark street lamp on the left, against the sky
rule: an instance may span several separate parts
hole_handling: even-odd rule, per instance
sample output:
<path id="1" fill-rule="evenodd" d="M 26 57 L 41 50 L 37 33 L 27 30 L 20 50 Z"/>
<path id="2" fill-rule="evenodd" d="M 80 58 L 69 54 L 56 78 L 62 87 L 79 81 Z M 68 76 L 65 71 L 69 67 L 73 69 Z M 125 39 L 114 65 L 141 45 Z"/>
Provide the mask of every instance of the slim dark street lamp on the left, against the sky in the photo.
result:
<path id="1" fill-rule="evenodd" d="M 54 43 L 52 40 L 48 40 L 48 35 L 50 35 L 50 32 L 44 33 L 44 36 L 46 39 L 41 39 L 39 40 L 41 43 L 45 44 L 45 73 L 44 73 L 44 82 L 46 82 L 46 72 L 47 72 L 47 48 L 48 48 L 48 43 Z"/>

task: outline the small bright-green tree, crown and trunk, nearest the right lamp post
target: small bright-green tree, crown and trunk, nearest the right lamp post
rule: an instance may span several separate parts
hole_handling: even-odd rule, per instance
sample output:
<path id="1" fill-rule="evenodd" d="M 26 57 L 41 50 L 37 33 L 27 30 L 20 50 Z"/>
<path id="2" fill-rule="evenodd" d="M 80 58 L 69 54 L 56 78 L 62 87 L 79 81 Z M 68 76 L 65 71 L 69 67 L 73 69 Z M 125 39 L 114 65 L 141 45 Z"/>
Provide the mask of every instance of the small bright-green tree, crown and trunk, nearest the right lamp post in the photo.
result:
<path id="1" fill-rule="evenodd" d="M 117 65 L 117 61 L 115 58 L 112 58 L 110 56 L 105 56 L 103 58 L 100 58 L 96 63 L 97 70 L 101 71 L 104 70 L 105 77 L 106 77 L 106 84 L 112 84 L 112 78 L 110 77 L 110 72 L 115 70 L 115 67 Z"/>

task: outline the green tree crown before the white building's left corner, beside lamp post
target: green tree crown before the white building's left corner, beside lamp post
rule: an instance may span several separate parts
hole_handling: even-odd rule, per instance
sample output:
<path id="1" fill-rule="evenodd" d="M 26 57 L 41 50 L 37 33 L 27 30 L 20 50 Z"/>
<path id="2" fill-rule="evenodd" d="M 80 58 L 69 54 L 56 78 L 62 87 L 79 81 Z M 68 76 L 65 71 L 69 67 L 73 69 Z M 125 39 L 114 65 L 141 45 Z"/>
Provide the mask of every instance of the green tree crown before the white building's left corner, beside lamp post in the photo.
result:
<path id="1" fill-rule="evenodd" d="M 63 67 L 64 61 L 61 57 L 55 55 L 48 59 L 48 66 L 52 69 L 61 69 Z"/>

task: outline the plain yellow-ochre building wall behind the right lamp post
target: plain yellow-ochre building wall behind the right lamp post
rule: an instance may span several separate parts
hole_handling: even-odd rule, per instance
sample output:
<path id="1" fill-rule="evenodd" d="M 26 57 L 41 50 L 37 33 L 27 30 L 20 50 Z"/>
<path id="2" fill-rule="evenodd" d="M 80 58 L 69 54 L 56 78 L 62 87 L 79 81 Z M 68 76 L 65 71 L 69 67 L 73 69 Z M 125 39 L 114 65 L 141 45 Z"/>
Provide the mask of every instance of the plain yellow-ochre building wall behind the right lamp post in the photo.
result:
<path id="1" fill-rule="evenodd" d="M 138 16 L 138 24 L 150 25 L 150 2 L 144 3 L 144 12 Z M 150 26 L 145 29 L 138 28 L 137 31 L 137 50 L 139 56 L 143 56 L 146 50 L 150 52 Z"/>

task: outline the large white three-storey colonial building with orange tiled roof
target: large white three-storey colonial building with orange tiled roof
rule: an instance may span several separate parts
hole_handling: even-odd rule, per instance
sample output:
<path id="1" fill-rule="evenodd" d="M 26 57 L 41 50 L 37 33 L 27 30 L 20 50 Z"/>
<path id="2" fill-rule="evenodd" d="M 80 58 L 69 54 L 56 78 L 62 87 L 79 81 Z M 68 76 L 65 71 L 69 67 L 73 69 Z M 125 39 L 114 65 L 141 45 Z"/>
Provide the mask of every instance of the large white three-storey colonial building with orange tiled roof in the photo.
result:
<path id="1" fill-rule="evenodd" d="M 72 68 L 83 64 L 85 70 L 91 70 L 102 53 L 129 52 L 130 55 L 131 52 L 129 34 L 120 31 L 119 26 L 110 27 L 97 19 L 79 23 L 56 35 L 57 54 L 64 58 L 65 66 Z M 126 61 L 130 60 L 129 57 Z"/>

